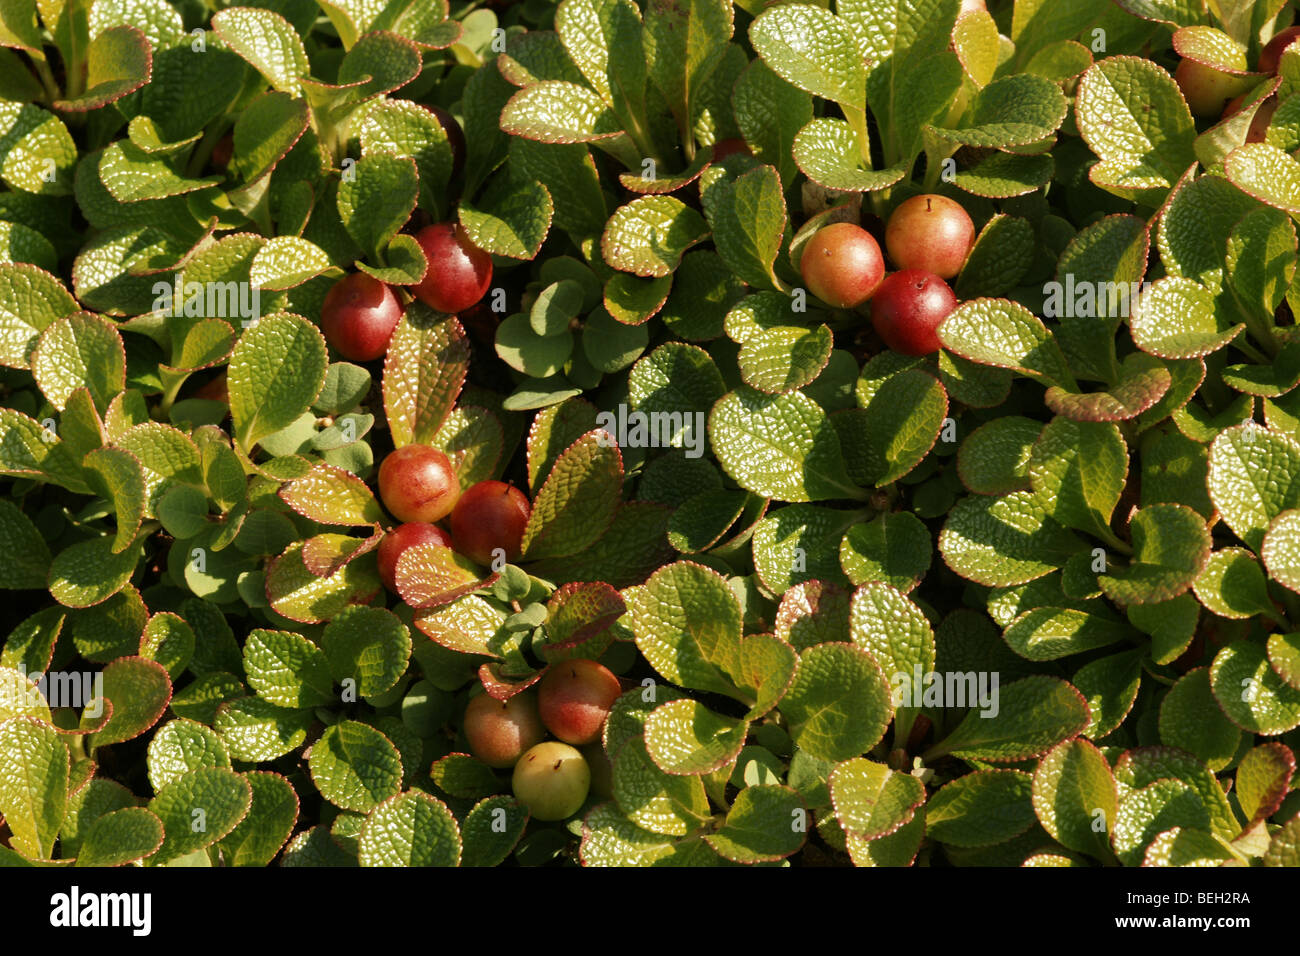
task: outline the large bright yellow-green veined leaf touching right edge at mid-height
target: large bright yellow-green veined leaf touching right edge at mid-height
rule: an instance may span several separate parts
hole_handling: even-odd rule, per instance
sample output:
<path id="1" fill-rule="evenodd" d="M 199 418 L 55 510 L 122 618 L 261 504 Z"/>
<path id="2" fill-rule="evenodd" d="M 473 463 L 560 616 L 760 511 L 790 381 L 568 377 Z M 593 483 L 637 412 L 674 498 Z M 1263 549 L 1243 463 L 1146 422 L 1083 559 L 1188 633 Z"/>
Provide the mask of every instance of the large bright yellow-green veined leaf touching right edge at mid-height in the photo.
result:
<path id="1" fill-rule="evenodd" d="M 1258 551 L 1269 524 L 1300 506 L 1300 445 L 1253 421 L 1225 428 L 1210 444 L 1208 486 L 1223 523 Z"/>

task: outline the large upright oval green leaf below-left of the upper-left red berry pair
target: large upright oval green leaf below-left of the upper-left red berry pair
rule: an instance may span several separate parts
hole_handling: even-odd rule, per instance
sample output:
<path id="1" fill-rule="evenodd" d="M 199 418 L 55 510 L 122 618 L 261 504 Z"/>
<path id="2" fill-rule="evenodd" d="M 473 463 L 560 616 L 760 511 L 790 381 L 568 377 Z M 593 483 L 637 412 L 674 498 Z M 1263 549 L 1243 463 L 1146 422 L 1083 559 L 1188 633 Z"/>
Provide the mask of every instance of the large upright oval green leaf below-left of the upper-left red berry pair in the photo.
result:
<path id="1" fill-rule="evenodd" d="M 266 316 L 239 338 L 230 355 L 230 414 L 248 450 L 307 411 L 325 382 L 325 338 L 306 319 Z"/>

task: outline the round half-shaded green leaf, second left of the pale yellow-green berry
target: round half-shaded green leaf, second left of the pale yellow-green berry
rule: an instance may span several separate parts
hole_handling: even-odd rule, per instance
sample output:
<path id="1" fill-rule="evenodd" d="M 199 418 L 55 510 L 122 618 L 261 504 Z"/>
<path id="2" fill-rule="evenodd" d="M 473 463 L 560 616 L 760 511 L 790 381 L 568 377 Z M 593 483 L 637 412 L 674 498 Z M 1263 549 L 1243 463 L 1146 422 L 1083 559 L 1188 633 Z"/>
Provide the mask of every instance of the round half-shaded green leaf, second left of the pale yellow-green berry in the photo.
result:
<path id="1" fill-rule="evenodd" d="M 339 721 L 312 744 L 312 783 L 342 810 L 368 813 L 402 790 L 402 758 L 380 731 Z"/>

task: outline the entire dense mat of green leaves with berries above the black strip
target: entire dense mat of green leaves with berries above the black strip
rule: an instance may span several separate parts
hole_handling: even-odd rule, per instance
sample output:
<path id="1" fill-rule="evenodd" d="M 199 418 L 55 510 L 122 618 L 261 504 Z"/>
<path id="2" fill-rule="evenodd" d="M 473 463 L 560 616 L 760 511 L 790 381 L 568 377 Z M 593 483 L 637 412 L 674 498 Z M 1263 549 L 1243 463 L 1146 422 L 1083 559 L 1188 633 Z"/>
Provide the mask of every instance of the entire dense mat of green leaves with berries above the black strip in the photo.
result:
<path id="1" fill-rule="evenodd" d="M 988 8 L 3 4 L 0 862 L 1300 865 L 1295 9 Z"/>

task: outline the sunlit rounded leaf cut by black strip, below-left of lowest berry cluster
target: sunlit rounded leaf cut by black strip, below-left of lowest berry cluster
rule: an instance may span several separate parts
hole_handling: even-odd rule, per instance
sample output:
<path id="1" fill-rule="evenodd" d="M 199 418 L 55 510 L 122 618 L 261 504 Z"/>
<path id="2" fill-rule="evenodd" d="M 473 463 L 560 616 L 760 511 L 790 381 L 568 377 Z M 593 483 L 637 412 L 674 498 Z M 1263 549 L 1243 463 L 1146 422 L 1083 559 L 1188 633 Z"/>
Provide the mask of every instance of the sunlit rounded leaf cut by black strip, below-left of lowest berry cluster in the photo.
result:
<path id="1" fill-rule="evenodd" d="M 460 827 L 441 800 L 408 791 L 367 817 L 359 851 L 361 866 L 458 866 Z"/>

